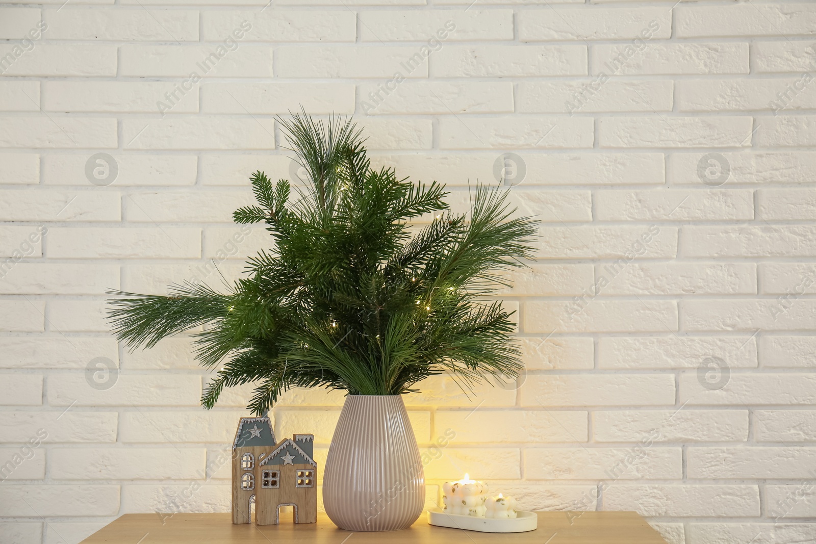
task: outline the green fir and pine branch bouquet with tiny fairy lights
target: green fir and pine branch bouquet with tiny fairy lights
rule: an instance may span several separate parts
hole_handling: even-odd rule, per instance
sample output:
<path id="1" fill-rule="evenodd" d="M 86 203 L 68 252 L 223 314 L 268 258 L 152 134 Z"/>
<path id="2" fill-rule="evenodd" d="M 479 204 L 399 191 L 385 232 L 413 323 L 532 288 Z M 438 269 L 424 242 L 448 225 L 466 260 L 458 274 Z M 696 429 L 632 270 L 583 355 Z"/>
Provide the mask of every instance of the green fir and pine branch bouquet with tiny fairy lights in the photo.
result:
<path id="1" fill-rule="evenodd" d="M 432 374 L 466 388 L 517 374 L 514 323 L 486 297 L 507 285 L 503 271 L 530 258 L 536 223 L 512 216 L 507 191 L 478 186 L 458 215 L 443 185 L 371 168 L 351 121 L 305 113 L 278 121 L 308 184 L 292 192 L 286 179 L 255 172 L 258 205 L 233 215 L 265 223 L 270 249 L 228 293 L 189 282 L 168 296 L 110 292 L 117 338 L 153 347 L 203 325 L 197 360 L 223 366 L 202 405 L 212 408 L 224 387 L 255 383 L 255 414 L 290 387 L 399 395 Z M 427 214 L 430 224 L 412 226 Z"/>

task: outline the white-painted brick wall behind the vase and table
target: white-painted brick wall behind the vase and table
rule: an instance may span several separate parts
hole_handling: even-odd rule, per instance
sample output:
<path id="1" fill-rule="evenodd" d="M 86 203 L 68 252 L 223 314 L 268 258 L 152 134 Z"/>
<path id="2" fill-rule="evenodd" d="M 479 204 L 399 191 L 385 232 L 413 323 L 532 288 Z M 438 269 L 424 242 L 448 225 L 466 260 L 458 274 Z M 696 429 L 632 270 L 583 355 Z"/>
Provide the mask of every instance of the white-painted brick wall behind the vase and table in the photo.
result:
<path id="1" fill-rule="evenodd" d="M 268 237 L 230 214 L 290 176 L 300 104 L 457 210 L 503 153 L 526 169 L 527 373 L 406 396 L 430 502 L 468 471 L 672 544 L 813 541 L 816 3 L 63 3 L 0 3 L 0 542 L 228 507 L 249 388 L 204 412 L 188 336 L 122 350 L 104 292 L 239 276 Z M 289 391 L 277 431 L 324 460 L 342 402 Z"/>

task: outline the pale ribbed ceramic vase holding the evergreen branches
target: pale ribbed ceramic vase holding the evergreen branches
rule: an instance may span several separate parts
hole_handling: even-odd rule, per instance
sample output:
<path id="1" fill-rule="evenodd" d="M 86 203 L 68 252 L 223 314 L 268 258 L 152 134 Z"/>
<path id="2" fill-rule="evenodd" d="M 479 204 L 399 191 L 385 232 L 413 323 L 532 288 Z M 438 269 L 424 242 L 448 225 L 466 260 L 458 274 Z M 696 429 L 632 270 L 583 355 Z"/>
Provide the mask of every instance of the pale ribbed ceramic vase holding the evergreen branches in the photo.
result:
<path id="1" fill-rule="evenodd" d="M 349 395 L 323 472 L 323 505 L 340 529 L 406 529 L 422 513 L 422 458 L 399 395 Z"/>

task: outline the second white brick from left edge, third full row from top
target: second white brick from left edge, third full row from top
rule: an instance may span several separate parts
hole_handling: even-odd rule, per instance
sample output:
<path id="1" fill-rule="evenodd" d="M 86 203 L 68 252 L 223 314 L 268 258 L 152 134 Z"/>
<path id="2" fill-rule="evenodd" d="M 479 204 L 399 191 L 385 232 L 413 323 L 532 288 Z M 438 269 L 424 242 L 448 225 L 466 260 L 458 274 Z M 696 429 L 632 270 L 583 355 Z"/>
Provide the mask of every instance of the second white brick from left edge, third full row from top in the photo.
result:
<path id="1" fill-rule="evenodd" d="M 184 83 L 44 82 L 42 108 L 51 112 L 197 113 L 198 94 Z M 175 93 L 175 94 L 173 94 Z"/>

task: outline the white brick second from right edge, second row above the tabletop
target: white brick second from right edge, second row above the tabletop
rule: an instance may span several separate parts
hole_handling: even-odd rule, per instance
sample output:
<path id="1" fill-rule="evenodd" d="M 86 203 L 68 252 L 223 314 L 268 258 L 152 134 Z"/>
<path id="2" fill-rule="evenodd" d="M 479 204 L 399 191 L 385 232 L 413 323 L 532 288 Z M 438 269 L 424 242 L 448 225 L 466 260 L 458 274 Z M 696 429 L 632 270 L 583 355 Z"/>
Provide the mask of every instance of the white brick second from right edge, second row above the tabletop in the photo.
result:
<path id="1" fill-rule="evenodd" d="M 680 448 L 530 448 L 524 474 L 534 480 L 667 480 L 680 478 Z"/>

